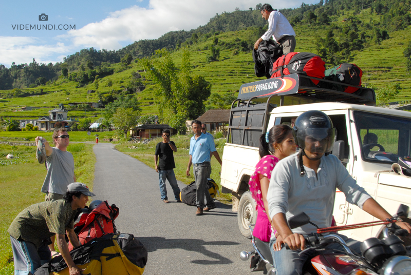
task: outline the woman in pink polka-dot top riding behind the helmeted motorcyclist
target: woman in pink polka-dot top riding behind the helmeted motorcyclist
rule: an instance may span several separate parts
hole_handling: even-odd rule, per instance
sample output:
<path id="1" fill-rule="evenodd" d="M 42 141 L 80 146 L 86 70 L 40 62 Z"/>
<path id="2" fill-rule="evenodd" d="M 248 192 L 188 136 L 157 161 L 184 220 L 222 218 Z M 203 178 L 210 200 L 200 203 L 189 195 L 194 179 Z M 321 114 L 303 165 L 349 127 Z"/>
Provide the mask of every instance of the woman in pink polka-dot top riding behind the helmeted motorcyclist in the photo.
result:
<path id="1" fill-rule="evenodd" d="M 257 203 L 257 220 L 253 230 L 254 237 L 269 242 L 271 238 L 271 219 L 268 217 L 267 191 L 270 184 L 271 172 L 279 160 L 286 158 L 296 151 L 292 129 L 288 125 L 276 125 L 266 134 L 261 135 L 258 152 L 261 160 L 255 166 L 249 186 L 253 199 Z M 281 237 L 275 229 L 277 244 L 281 245 Z"/>

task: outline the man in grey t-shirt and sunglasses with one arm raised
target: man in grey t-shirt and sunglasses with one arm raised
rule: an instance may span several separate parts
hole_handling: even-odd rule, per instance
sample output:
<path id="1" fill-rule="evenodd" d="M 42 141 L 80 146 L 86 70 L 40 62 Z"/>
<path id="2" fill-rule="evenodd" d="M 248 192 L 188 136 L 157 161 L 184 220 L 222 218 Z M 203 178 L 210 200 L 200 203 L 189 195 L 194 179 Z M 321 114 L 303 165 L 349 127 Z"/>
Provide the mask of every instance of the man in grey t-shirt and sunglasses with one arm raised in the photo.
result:
<path id="1" fill-rule="evenodd" d="M 35 138 L 36 144 L 40 136 Z M 73 155 L 67 152 L 69 144 L 69 135 L 66 128 L 54 129 L 52 135 L 55 147 L 51 147 L 47 140 L 43 138 L 42 142 L 46 150 L 47 175 L 41 191 L 46 193 L 46 201 L 62 200 L 70 183 L 76 182 L 74 175 Z M 49 245 L 52 256 L 58 255 L 54 249 L 54 237 L 51 238 L 52 244 Z"/>

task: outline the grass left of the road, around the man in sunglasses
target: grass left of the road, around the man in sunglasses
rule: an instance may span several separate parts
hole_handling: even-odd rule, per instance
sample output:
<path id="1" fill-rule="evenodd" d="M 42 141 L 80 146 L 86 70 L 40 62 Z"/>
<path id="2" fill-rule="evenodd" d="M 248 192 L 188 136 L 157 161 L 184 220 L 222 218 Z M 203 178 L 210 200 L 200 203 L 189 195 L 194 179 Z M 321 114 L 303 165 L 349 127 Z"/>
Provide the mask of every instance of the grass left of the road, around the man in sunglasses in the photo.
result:
<path id="1" fill-rule="evenodd" d="M 16 133 L 16 132 L 14 132 Z M 67 148 L 74 157 L 74 173 L 78 182 L 92 190 L 96 156 L 92 144 L 71 144 Z M 14 274 L 13 254 L 7 229 L 15 216 L 25 207 L 44 201 L 40 192 L 46 176 L 44 164 L 35 159 L 34 146 L 0 145 L 0 274 Z M 16 156 L 14 161 L 6 155 Z"/>

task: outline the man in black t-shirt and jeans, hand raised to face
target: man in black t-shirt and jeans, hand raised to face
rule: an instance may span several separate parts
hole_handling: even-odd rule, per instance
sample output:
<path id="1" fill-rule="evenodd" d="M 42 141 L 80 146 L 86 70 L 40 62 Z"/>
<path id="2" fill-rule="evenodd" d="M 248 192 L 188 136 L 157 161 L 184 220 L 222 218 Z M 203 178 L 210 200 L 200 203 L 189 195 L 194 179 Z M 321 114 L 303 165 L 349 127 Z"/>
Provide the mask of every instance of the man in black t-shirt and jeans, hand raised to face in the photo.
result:
<path id="1" fill-rule="evenodd" d="M 156 165 L 156 172 L 160 181 L 161 200 L 164 203 L 169 203 L 167 199 L 167 189 L 165 188 L 165 179 L 169 180 L 171 188 L 173 188 L 174 198 L 180 202 L 180 188 L 178 188 L 176 175 L 174 174 L 174 156 L 173 151 L 177 152 L 177 147 L 174 142 L 170 141 L 170 130 L 164 129 L 161 133 L 163 141 L 157 143 L 156 152 L 154 153 L 154 162 Z M 157 165 L 158 157 L 160 157 L 160 164 Z"/>

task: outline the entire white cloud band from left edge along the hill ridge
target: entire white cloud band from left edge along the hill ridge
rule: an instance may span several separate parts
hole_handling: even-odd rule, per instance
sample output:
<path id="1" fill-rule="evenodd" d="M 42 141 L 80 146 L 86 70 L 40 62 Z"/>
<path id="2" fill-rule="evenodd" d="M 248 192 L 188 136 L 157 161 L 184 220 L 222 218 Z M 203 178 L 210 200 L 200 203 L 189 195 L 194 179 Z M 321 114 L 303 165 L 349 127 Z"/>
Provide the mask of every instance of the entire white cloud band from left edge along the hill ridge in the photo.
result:
<path id="1" fill-rule="evenodd" d="M 0 36 L 0 64 L 29 63 L 32 58 L 39 63 L 61 62 L 64 56 L 89 47 L 118 50 L 122 45 L 156 39 L 170 31 L 195 29 L 206 25 L 216 13 L 232 12 L 237 7 L 248 10 L 259 3 L 251 0 L 150 0 L 148 8 L 141 8 L 138 6 L 141 1 L 136 0 L 136 6 L 111 12 L 100 22 L 53 37 L 61 42 L 55 45 L 49 42 L 53 38 L 45 41 L 35 37 Z M 279 0 L 273 8 L 298 7 L 301 1 Z M 317 2 L 306 1 L 307 4 Z"/>

